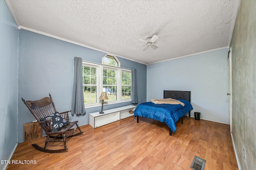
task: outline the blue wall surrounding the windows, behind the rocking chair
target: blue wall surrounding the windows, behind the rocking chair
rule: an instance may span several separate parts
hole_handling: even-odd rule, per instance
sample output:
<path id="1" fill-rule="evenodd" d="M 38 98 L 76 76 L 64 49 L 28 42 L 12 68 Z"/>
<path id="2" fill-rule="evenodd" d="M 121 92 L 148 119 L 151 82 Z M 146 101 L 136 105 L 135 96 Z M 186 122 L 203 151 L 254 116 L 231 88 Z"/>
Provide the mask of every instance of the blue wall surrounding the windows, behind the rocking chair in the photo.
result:
<path id="1" fill-rule="evenodd" d="M 21 29 L 19 32 L 19 72 L 18 72 L 18 142 L 22 142 L 24 123 L 34 121 L 20 98 L 38 100 L 52 95 L 59 112 L 71 109 L 73 87 L 73 57 L 101 63 L 106 53 L 74 45 Z M 146 65 L 118 57 L 121 67 L 137 70 L 138 102 L 146 101 Z M 124 102 L 104 106 L 112 109 L 131 104 Z M 71 115 L 70 121 L 78 120 L 79 125 L 89 123 L 89 113 L 101 107 L 86 109 L 85 115 Z"/>

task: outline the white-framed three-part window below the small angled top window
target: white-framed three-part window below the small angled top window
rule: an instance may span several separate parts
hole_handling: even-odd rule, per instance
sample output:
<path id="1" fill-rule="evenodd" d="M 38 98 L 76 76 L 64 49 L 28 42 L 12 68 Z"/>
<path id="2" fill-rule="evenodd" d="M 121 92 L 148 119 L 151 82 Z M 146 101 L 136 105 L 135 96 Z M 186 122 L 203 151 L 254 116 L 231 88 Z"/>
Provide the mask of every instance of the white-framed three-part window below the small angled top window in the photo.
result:
<path id="1" fill-rule="evenodd" d="M 85 107 L 101 106 L 99 96 L 107 92 L 104 105 L 131 101 L 132 71 L 83 61 Z"/>

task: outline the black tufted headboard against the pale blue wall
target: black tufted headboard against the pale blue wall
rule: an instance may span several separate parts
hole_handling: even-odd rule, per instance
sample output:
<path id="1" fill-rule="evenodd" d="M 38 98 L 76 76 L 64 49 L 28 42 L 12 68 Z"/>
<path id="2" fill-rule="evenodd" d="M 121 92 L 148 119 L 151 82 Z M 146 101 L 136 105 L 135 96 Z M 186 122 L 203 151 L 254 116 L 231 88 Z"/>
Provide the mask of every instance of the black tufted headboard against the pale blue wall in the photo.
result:
<path id="1" fill-rule="evenodd" d="M 164 99 L 183 99 L 190 102 L 190 91 L 173 91 L 173 90 L 164 90 Z"/>

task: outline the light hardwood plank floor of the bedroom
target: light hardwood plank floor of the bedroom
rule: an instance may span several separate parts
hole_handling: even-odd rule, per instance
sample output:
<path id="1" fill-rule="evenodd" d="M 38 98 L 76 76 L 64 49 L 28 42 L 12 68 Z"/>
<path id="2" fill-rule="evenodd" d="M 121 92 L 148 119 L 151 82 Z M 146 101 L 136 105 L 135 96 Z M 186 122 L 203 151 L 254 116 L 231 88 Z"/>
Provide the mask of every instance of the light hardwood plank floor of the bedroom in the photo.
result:
<path id="1" fill-rule="evenodd" d="M 79 119 L 78 119 L 79 120 Z M 44 153 L 32 143 L 44 146 L 45 137 L 19 143 L 12 160 L 35 160 L 36 164 L 9 164 L 8 170 L 191 170 L 195 155 L 204 158 L 204 170 L 238 170 L 229 125 L 184 117 L 169 135 L 165 123 L 128 117 L 93 129 L 81 126 L 82 135 L 67 139 L 67 152 Z M 47 149 L 62 148 L 62 142 Z"/>

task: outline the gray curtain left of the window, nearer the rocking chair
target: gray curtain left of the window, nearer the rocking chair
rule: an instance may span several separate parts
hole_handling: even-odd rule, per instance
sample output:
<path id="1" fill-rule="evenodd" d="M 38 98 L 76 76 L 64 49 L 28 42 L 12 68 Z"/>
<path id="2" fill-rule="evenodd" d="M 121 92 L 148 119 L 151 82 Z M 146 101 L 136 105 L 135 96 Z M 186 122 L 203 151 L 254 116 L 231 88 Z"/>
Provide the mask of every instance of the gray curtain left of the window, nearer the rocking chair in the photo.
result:
<path id="1" fill-rule="evenodd" d="M 86 113 L 84 109 L 82 58 L 80 57 L 74 57 L 74 80 L 71 113 L 72 115 Z"/>

